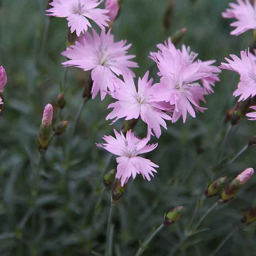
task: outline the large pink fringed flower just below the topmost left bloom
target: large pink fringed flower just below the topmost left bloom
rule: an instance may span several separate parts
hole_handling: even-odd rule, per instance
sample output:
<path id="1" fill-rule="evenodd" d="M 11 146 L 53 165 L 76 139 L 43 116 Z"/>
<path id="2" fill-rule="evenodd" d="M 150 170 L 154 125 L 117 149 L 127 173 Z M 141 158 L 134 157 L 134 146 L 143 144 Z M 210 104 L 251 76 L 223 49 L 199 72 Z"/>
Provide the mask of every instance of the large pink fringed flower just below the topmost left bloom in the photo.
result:
<path id="1" fill-rule="evenodd" d="M 105 98 L 107 89 L 111 92 L 114 91 L 114 80 L 116 79 L 114 73 L 118 76 L 123 72 L 133 74 L 129 68 L 138 67 L 137 63 L 129 61 L 135 55 L 127 55 L 131 44 L 125 45 L 126 41 L 124 40 L 114 42 L 114 36 L 110 32 L 111 30 L 108 33 L 102 30 L 98 35 L 93 29 L 93 36 L 89 32 L 85 33 L 79 37 L 79 41 L 75 42 L 75 45 L 61 53 L 71 59 L 62 63 L 63 65 L 75 66 L 84 71 L 92 69 L 93 88 L 91 93 L 93 99 L 99 91 L 101 100 Z"/>

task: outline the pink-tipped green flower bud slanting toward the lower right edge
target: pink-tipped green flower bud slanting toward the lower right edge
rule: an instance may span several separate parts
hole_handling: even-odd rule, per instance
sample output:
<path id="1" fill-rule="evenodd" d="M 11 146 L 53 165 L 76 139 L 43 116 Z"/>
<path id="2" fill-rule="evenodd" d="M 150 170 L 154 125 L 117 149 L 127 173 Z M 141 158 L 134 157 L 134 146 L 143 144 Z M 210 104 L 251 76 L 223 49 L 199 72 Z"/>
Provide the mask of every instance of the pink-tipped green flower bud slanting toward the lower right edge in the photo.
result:
<path id="1" fill-rule="evenodd" d="M 244 185 L 245 182 L 249 180 L 249 178 L 252 176 L 253 173 L 254 173 L 253 168 L 247 168 L 241 174 L 239 174 L 236 178 L 234 178 L 234 180 L 231 181 L 230 184 L 225 189 L 222 190 L 222 193 L 219 197 L 218 202 L 227 203 L 231 199 L 233 199 L 236 193 L 242 187 L 242 185 Z"/>

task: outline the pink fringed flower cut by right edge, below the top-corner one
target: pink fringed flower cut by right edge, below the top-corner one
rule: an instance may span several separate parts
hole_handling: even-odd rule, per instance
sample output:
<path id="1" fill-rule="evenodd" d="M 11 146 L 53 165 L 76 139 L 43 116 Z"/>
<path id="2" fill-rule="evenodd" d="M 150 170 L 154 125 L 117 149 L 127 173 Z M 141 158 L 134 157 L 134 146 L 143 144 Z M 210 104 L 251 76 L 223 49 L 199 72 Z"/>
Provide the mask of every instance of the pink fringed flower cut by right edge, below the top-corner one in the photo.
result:
<path id="1" fill-rule="evenodd" d="M 240 75 L 238 88 L 234 91 L 235 97 L 240 96 L 238 101 L 244 101 L 248 97 L 256 95 L 256 56 L 252 53 L 241 51 L 241 59 L 230 54 L 233 60 L 225 58 L 228 63 L 221 63 L 220 68 L 235 71 Z"/>

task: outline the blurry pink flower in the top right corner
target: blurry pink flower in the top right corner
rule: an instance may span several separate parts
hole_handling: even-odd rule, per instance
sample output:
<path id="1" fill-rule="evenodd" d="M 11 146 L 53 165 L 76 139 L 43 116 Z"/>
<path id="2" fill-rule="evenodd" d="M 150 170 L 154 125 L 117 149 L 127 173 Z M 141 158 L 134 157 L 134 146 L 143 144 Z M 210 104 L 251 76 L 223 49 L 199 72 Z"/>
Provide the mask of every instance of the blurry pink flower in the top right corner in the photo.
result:
<path id="1" fill-rule="evenodd" d="M 236 22 L 230 24 L 236 27 L 231 31 L 231 35 L 240 35 L 249 29 L 256 29 L 256 6 L 252 6 L 249 0 L 237 0 L 237 4 L 229 3 L 231 9 L 222 12 L 223 18 L 235 18 Z"/>

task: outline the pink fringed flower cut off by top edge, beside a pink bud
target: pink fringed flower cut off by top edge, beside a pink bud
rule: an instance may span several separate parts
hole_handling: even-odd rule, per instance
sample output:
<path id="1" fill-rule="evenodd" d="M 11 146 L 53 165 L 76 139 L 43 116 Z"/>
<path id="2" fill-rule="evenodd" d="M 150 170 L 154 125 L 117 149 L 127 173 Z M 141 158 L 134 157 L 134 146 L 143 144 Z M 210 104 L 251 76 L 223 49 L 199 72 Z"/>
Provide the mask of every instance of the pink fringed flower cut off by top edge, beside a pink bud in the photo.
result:
<path id="1" fill-rule="evenodd" d="M 105 30 L 108 27 L 109 11 L 97 7 L 103 0 L 54 0 L 50 5 L 52 8 L 46 10 L 51 12 L 51 16 L 67 17 L 68 27 L 71 27 L 71 33 L 76 31 L 77 36 L 87 31 L 91 27 L 89 19 Z"/>

